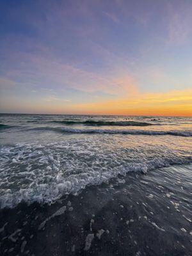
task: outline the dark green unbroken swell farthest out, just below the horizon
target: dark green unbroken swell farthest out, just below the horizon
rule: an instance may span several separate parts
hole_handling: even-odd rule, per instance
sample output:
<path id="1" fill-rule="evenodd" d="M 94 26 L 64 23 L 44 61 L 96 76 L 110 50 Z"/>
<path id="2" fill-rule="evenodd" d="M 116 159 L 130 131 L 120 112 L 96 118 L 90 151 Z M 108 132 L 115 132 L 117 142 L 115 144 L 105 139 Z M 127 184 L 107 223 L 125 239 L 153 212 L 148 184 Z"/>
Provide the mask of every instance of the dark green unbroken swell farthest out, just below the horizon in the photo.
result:
<path id="1" fill-rule="evenodd" d="M 92 126 L 148 126 L 148 125 L 155 125 L 150 124 L 147 122 L 136 122 L 136 121 L 94 121 L 94 120 L 86 120 L 86 121 L 52 121 L 56 124 L 65 124 L 65 125 L 77 125 L 77 124 L 83 124 L 83 125 L 92 125 Z"/>

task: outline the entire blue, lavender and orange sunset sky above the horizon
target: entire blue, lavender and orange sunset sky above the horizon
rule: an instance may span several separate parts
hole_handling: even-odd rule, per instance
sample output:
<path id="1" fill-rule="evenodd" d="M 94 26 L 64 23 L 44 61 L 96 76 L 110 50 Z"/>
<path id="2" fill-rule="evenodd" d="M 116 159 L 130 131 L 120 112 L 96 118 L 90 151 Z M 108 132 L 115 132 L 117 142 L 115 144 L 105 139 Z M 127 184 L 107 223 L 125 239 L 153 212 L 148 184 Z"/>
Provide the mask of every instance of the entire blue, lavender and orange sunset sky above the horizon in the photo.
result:
<path id="1" fill-rule="evenodd" d="M 0 112 L 192 116 L 192 1 L 1 0 Z"/>

